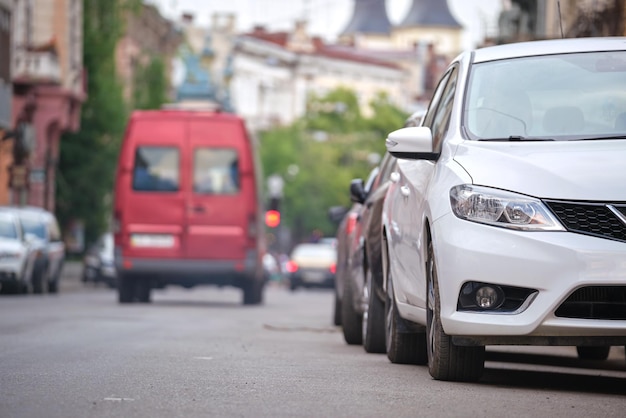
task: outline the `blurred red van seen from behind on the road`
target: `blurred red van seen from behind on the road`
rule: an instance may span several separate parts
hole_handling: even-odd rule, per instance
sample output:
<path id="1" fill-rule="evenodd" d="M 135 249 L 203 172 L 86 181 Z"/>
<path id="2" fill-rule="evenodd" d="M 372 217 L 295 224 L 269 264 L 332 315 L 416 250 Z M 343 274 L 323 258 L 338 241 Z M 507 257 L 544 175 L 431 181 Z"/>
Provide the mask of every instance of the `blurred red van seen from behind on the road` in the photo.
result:
<path id="1" fill-rule="evenodd" d="M 201 284 L 263 299 L 259 164 L 244 121 L 210 110 L 131 115 L 115 180 L 120 303 L 153 288 Z"/>

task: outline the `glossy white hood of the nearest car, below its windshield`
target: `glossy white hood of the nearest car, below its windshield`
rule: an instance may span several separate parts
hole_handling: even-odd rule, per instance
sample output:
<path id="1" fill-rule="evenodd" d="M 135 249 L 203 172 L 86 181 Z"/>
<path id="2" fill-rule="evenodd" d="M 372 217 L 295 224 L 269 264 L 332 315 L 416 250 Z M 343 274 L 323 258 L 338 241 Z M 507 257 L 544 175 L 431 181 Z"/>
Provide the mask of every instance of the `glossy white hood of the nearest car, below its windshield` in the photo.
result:
<path id="1" fill-rule="evenodd" d="M 454 155 L 476 185 L 538 198 L 626 201 L 626 141 L 461 143 Z"/>

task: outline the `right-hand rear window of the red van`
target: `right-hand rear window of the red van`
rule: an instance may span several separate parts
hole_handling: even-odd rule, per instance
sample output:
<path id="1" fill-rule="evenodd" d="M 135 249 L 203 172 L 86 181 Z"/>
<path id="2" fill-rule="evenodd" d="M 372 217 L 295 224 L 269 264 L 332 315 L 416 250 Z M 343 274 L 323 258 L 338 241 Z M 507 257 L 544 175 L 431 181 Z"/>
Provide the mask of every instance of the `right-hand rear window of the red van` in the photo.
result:
<path id="1" fill-rule="evenodd" d="M 199 147 L 193 157 L 193 189 L 200 194 L 239 192 L 239 158 L 230 148 Z"/>

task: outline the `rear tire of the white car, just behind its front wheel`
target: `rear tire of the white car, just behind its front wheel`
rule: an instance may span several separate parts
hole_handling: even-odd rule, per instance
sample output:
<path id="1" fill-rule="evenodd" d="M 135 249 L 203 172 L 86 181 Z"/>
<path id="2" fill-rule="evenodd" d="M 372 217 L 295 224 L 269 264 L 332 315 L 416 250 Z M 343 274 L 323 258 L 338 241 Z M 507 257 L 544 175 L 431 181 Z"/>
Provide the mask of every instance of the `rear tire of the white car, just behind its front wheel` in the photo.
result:
<path id="1" fill-rule="evenodd" d="M 387 271 L 385 299 L 385 342 L 387 358 L 394 364 L 426 364 L 426 334 L 410 332 L 398 313 L 393 293 L 393 278 Z"/>

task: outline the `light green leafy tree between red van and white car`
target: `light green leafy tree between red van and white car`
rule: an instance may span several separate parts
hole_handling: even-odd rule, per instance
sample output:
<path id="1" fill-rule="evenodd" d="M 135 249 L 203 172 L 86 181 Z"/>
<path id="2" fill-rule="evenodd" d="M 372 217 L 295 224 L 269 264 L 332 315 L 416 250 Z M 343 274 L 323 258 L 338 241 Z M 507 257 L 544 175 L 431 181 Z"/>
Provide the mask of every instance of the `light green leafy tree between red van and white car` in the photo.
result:
<path id="1" fill-rule="evenodd" d="M 282 225 L 296 241 L 313 230 L 335 235 L 328 209 L 351 204 L 350 181 L 368 176 L 371 156 L 384 154 L 384 138 L 408 116 L 382 93 L 371 106 L 373 116 L 363 118 L 356 94 L 339 88 L 312 97 L 302 120 L 261 134 L 263 171 L 285 179 Z"/>

